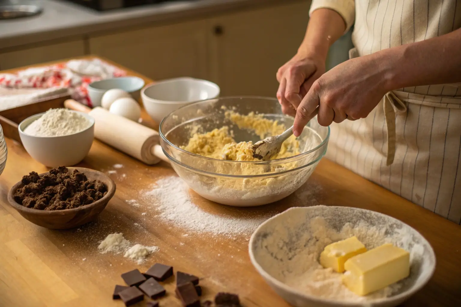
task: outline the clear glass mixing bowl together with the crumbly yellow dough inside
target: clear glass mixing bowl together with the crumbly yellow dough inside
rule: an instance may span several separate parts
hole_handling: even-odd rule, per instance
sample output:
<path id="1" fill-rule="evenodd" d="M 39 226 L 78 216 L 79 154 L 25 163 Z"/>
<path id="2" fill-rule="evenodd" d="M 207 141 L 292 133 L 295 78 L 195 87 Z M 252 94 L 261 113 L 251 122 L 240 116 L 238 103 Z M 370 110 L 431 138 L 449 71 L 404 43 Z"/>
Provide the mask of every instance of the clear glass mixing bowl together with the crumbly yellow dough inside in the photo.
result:
<path id="1" fill-rule="evenodd" d="M 231 97 L 178 109 L 160 123 L 159 132 L 171 166 L 192 190 L 217 203 L 257 206 L 296 191 L 325 155 L 329 127 L 313 120 L 272 160 L 253 158 L 252 144 L 292 124 L 277 99 Z"/>

